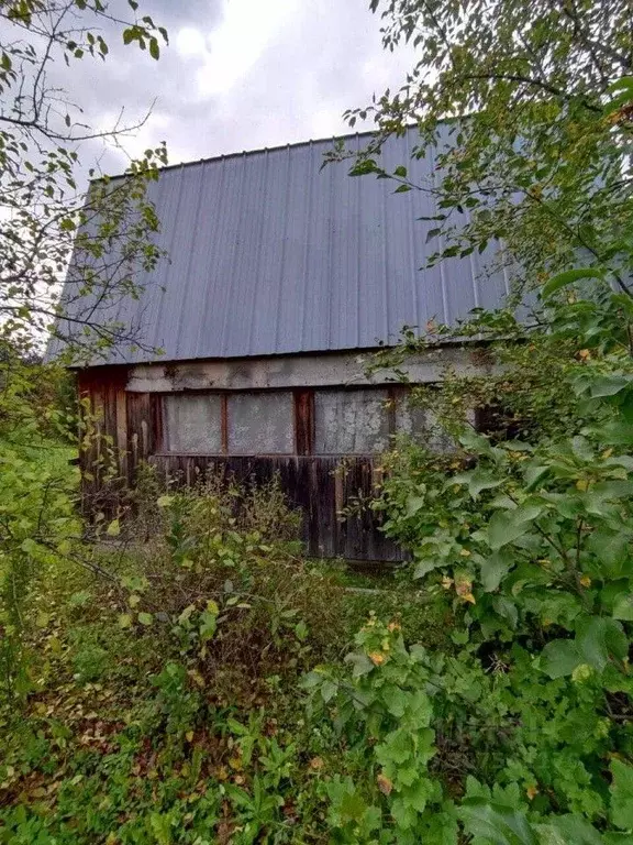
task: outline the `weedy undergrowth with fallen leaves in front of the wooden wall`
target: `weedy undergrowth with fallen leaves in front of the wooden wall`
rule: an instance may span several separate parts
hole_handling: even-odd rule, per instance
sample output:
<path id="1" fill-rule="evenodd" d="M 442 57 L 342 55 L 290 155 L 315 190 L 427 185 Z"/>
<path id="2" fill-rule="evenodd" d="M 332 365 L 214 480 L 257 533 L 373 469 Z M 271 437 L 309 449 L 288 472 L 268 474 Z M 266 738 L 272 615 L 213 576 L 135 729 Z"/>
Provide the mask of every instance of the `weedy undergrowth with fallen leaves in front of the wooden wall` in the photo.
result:
<path id="1" fill-rule="evenodd" d="M 371 608 L 449 646 L 446 603 L 297 557 L 276 485 L 142 486 L 142 548 L 111 530 L 84 549 L 92 572 L 40 569 L 27 703 L 0 707 L 0 842 L 329 842 L 342 742 L 300 679 L 337 662 Z"/>

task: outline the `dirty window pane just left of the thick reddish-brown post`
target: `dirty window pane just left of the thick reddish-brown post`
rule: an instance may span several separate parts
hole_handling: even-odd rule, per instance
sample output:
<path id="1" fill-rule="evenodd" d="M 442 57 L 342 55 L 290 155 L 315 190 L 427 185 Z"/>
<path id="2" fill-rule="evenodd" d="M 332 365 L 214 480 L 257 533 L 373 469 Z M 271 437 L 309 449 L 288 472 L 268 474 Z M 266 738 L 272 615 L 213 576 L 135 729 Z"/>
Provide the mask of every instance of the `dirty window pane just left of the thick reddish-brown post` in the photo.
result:
<path id="1" fill-rule="evenodd" d="M 229 396 L 230 454 L 291 454 L 295 451 L 291 393 Z"/>

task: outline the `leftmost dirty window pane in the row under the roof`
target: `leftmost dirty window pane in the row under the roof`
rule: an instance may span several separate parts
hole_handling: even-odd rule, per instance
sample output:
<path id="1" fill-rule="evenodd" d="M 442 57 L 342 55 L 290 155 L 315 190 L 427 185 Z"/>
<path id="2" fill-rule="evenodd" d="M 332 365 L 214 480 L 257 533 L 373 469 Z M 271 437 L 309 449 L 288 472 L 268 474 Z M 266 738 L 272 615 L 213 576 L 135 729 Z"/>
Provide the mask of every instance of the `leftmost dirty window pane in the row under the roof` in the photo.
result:
<path id="1" fill-rule="evenodd" d="M 209 394 L 164 397 L 165 446 L 180 454 L 222 451 L 221 397 Z"/>

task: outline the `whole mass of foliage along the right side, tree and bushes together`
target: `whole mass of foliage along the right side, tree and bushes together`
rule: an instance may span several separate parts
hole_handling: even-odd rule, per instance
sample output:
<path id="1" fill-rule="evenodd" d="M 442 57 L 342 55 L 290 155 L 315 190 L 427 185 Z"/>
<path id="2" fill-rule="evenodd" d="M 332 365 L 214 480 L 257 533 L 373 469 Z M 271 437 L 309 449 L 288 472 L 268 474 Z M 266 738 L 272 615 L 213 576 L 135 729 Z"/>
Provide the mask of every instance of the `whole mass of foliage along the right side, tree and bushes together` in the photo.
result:
<path id="1" fill-rule="evenodd" d="M 531 326 L 508 311 L 426 327 L 431 342 L 484 341 L 489 375 L 414 391 L 457 448 L 400 443 L 378 506 L 412 578 L 453 597 L 457 651 L 407 648 L 374 621 L 351 674 L 312 676 L 375 776 L 340 783 L 334 817 L 346 842 L 630 842 L 630 8 L 371 6 L 386 45 L 411 41 L 421 58 L 373 103 L 379 134 L 352 174 L 432 194 L 431 262 L 495 241 L 518 289 L 538 293 Z M 433 185 L 380 165 L 411 120 Z M 380 364 L 406 378 L 407 353 L 429 342 L 412 330 Z"/>

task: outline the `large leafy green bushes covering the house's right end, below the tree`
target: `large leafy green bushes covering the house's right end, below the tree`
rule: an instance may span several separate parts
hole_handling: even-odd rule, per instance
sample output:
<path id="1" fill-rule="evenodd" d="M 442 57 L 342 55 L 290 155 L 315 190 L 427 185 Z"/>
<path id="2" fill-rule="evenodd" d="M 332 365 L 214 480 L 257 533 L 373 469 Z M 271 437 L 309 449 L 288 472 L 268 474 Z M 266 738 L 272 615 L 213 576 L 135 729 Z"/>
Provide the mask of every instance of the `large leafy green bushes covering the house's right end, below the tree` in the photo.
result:
<path id="1" fill-rule="evenodd" d="M 455 654 L 373 619 L 351 671 L 309 677 L 358 771 L 331 789 L 343 842 L 631 841 L 629 318 L 613 294 L 552 317 L 488 352 L 503 369 L 485 396 L 529 422 L 522 439 L 474 431 L 481 380 L 448 374 L 434 409 L 458 449 L 399 443 L 388 459 L 377 506 L 412 579 L 452 597 Z M 528 394 L 530 359 L 555 354 L 557 378 L 536 366 Z"/>

